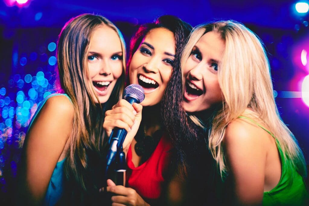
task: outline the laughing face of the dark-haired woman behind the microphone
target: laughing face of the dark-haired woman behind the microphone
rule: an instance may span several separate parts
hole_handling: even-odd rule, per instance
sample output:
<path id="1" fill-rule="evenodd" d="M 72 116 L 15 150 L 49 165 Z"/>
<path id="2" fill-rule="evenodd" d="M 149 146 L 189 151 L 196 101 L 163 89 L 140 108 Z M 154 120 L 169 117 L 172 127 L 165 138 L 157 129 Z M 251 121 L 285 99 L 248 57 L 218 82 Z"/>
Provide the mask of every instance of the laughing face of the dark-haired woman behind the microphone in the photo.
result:
<path id="1" fill-rule="evenodd" d="M 133 54 L 129 78 L 145 90 L 143 106 L 158 104 L 171 78 L 175 60 L 175 38 L 165 28 L 151 29 Z"/>

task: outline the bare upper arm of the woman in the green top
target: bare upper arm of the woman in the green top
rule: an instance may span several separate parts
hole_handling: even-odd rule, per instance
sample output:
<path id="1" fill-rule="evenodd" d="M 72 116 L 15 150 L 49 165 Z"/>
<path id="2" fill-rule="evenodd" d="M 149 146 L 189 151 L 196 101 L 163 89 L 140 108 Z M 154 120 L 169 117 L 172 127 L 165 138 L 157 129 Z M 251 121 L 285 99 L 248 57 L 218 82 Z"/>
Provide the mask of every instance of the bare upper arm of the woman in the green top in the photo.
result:
<path id="1" fill-rule="evenodd" d="M 223 139 L 226 163 L 240 205 L 260 205 L 263 200 L 266 149 L 262 132 L 239 119 L 226 128 Z"/>

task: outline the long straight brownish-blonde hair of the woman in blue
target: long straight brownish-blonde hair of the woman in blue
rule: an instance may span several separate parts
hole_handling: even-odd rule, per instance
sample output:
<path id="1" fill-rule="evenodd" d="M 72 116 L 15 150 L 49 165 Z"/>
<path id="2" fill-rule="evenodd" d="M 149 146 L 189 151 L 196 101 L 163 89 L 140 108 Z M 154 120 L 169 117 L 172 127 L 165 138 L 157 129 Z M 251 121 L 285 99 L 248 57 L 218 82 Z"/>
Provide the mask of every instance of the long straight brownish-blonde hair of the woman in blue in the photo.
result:
<path id="1" fill-rule="evenodd" d="M 96 105 L 89 86 L 87 57 L 90 40 L 95 29 L 108 26 L 117 32 L 122 47 L 123 72 L 108 101 Z M 125 42 L 121 32 L 108 19 L 100 15 L 83 14 L 70 19 L 62 28 L 57 42 L 56 89 L 66 93 L 74 107 L 74 119 L 70 134 L 70 147 L 65 161 L 65 174 L 82 191 L 86 191 L 88 154 L 99 152 L 103 145 L 104 110 L 114 105 L 122 97 L 125 76 Z"/>

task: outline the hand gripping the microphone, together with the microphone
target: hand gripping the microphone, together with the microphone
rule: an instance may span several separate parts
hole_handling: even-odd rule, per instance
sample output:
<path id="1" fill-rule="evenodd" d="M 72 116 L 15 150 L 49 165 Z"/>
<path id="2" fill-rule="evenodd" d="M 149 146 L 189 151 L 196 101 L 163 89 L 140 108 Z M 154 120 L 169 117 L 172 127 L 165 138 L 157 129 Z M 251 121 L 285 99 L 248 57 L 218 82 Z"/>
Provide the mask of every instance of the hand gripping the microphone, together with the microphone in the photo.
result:
<path id="1" fill-rule="evenodd" d="M 122 149 L 122 146 L 125 150 L 129 148 L 142 120 L 142 105 L 138 103 L 144 100 L 143 88 L 140 85 L 131 84 L 125 88 L 124 93 L 124 99 L 105 113 L 103 127 L 110 136 L 108 166 L 114 161 L 117 149 Z"/>

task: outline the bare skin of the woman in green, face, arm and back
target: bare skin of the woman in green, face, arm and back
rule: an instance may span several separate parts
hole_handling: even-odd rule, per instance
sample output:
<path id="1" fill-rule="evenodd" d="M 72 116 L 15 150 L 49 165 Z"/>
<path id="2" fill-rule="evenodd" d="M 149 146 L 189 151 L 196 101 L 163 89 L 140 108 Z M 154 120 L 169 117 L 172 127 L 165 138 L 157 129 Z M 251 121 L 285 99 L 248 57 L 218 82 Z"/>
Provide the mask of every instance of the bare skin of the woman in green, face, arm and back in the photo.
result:
<path id="1" fill-rule="evenodd" d="M 199 49 L 200 53 L 195 50 Z M 184 67 L 186 84 L 200 90 L 200 96 L 184 93 L 184 108 L 188 112 L 205 111 L 222 103 L 216 67 L 221 61 L 225 42 L 215 32 L 207 32 L 193 48 Z M 215 60 L 215 61 L 214 61 Z M 267 128 L 253 111 L 247 116 Z M 226 164 L 234 180 L 235 197 L 239 205 L 260 205 L 263 192 L 273 189 L 281 177 L 281 162 L 275 139 L 250 120 L 237 118 L 230 122 L 223 137 Z"/>

